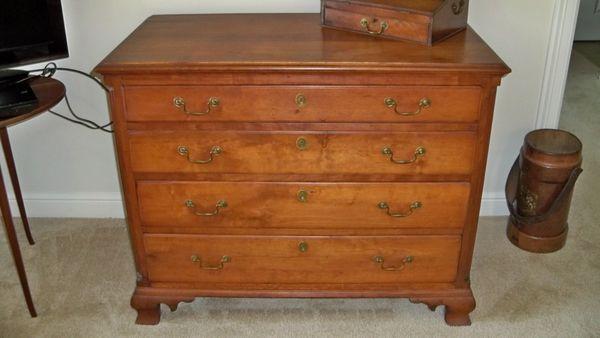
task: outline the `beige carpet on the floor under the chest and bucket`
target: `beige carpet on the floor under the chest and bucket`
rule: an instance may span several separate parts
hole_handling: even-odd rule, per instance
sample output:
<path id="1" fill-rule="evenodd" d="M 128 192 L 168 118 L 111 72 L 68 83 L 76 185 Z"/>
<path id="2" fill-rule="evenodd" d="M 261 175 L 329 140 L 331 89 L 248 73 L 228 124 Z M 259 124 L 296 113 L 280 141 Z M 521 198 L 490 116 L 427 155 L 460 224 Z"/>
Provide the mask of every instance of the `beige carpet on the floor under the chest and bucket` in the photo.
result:
<path id="1" fill-rule="evenodd" d="M 594 48 L 593 46 L 590 48 Z M 586 49 L 588 51 L 588 49 Z M 594 53 L 592 53 L 594 54 Z M 592 337 L 600 335 L 600 80 L 575 52 L 563 128 L 585 144 L 585 172 L 560 252 L 535 255 L 505 239 L 505 218 L 483 218 L 475 249 L 471 327 L 445 325 L 406 300 L 198 299 L 159 326 L 133 324 L 134 269 L 121 220 L 32 220 L 25 263 L 39 317 L 28 316 L 0 239 L 1 337 Z M 595 108 L 593 108 L 595 107 Z M 17 224 L 20 226 L 20 224 Z M 3 237 L 3 236 L 0 236 Z"/>

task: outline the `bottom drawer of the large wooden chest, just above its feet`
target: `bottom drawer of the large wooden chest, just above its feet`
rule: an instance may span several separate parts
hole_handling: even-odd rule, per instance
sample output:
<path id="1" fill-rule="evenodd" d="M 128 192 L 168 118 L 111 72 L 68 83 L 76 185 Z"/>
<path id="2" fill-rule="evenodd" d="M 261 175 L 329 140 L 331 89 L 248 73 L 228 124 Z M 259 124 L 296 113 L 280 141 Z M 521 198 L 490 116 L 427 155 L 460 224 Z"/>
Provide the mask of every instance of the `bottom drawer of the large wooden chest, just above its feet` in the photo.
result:
<path id="1" fill-rule="evenodd" d="M 144 235 L 151 282 L 452 282 L 458 236 Z"/>

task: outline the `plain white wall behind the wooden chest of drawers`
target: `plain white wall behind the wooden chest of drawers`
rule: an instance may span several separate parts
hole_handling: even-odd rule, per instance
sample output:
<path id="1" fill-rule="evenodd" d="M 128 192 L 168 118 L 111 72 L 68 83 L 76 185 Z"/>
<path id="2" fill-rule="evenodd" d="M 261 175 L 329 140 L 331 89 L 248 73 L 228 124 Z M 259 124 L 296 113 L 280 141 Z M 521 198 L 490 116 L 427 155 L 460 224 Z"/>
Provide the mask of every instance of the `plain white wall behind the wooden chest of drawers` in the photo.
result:
<path id="1" fill-rule="evenodd" d="M 152 14 L 320 9 L 319 0 L 62 2 L 71 57 L 58 63 L 84 71 L 90 71 Z M 554 2 L 471 0 L 470 24 L 513 69 L 498 92 L 483 214 L 505 213 L 505 176 L 524 134 L 534 126 Z M 98 87 L 70 74 L 59 73 L 58 78 L 78 112 L 96 121 L 108 119 L 106 99 Z M 57 110 L 65 111 L 63 106 Z M 30 216 L 122 217 L 111 136 L 49 114 L 9 132 Z"/>

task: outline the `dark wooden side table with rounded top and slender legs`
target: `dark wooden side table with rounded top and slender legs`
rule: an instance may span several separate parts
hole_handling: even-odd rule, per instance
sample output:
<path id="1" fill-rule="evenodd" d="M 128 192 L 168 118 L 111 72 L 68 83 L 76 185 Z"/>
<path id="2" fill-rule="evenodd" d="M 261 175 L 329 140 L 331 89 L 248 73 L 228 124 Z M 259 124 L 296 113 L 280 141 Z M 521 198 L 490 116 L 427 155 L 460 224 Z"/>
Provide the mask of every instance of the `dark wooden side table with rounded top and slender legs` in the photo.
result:
<path id="1" fill-rule="evenodd" d="M 65 86 L 58 80 L 51 78 L 38 78 L 32 80 L 31 88 L 35 92 L 38 98 L 38 104 L 36 106 L 30 106 L 23 108 L 26 111 L 23 114 L 0 120 L 0 140 L 2 141 L 2 150 L 6 158 L 6 164 L 8 166 L 8 172 L 10 174 L 10 180 L 12 182 L 17 204 L 19 205 L 19 213 L 23 221 L 23 227 L 25 228 L 25 234 L 29 244 L 33 245 L 33 237 L 31 236 L 31 230 L 29 229 L 29 222 L 27 221 L 27 214 L 25 213 L 25 205 L 23 204 L 23 195 L 21 194 L 21 187 L 19 186 L 19 180 L 17 178 L 17 169 L 15 167 L 15 161 L 13 159 L 12 150 L 10 148 L 10 141 L 8 138 L 7 127 L 15 124 L 19 124 L 23 121 L 29 120 L 32 117 L 41 114 L 48 109 L 58 104 L 65 96 Z M 31 298 L 31 292 L 29 291 L 29 284 L 27 283 L 27 275 L 25 273 L 25 266 L 23 265 L 23 258 L 21 256 L 21 249 L 17 240 L 17 234 L 15 232 L 15 226 L 12 221 L 12 215 L 10 212 L 10 205 L 8 203 L 8 196 L 6 194 L 6 186 L 4 185 L 4 179 L 0 172 L 0 209 L 2 211 L 2 218 L 4 220 L 4 227 L 6 228 L 6 236 L 8 237 L 8 243 L 12 251 L 17 273 L 19 274 L 19 281 L 23 288 L 23 294 L 25 295 L 25 302 L 31 317 L 37 317 L 33 300 Z"/>

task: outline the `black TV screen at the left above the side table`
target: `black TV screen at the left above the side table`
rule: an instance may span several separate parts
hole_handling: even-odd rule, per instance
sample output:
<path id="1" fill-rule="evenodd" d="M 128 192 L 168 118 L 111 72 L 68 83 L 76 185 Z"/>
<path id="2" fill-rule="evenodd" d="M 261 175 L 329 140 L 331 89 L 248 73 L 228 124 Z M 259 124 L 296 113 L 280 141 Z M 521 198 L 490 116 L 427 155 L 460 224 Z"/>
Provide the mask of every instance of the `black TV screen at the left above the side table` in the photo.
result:
<path id="1" fill-rule="evenodd" d="M 60 0 L 0 0 L 0 69 L 67 56 Z"/>

